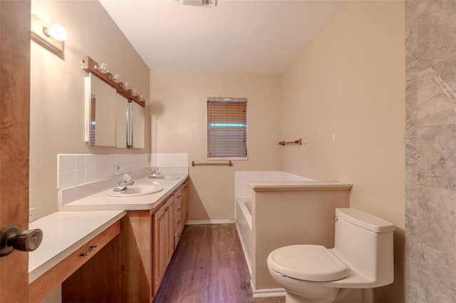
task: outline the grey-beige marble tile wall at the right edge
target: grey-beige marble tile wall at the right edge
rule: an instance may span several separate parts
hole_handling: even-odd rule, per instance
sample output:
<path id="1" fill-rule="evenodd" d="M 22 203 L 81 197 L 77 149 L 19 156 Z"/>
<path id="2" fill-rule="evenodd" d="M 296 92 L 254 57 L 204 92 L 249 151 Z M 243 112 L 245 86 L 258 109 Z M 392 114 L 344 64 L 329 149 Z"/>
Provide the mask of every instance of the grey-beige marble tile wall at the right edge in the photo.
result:
<path id="1" fill-rule="evenodd" d="M 456 1 L 405 1 L 406 302 L 456 302 Z"/>

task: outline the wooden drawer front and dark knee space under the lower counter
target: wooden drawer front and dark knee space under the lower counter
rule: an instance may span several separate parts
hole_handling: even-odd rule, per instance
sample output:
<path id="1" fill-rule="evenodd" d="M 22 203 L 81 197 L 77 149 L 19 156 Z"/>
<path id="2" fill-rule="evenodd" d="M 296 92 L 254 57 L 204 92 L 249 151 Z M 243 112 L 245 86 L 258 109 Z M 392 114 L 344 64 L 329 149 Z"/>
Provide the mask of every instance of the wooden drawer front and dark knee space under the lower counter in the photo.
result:
<path id="1" fill-rule="evenodd" d="M 61 283 L 62 302 L 120 302 L 119 233 L 120 221 L 31 282 L 28 302 L 41 302 Z"/>

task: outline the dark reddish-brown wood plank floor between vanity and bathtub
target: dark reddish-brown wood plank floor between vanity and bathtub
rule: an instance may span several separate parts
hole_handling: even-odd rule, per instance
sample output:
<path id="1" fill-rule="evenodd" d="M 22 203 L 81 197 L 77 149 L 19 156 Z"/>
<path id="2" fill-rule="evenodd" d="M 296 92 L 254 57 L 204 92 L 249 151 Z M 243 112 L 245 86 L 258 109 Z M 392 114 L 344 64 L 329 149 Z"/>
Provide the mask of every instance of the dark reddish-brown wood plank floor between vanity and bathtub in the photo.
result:
<path id="1" fill-rule="evenodd" d="M 283 303 L 252 299 L 250 274 L 235 224 L 185 225 L 154 303 Z"/>

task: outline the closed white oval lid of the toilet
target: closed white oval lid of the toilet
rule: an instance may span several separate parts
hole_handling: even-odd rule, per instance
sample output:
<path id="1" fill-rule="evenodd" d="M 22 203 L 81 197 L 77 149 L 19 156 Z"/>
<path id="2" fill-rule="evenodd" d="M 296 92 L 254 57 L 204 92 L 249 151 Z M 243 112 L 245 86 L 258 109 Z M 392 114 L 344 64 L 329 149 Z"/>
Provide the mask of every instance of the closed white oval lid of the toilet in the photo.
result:
<path id="1" fill-rule="evenodd" d="M 272 270 L 306 281 L 334 281 L 348 275 L 348 267 L 321 245 L 291 245 L 268 256 Z"/>

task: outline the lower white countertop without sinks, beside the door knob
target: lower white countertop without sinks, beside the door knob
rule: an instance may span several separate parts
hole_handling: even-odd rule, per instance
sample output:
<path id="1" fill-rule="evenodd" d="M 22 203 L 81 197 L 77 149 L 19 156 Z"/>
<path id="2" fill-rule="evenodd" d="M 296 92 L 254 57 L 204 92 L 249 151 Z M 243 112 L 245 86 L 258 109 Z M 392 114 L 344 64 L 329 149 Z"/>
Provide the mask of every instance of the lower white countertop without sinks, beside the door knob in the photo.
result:
<path id="1" fill-rule="evenodd" d="M 28 283 L 78 250 L 125 216 L 126 211 L 65 211 L 52 213 L 28 225 L 43 231 L 41 245 L 28 254 Z"/>

